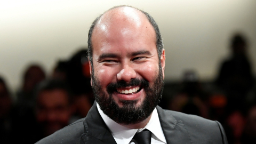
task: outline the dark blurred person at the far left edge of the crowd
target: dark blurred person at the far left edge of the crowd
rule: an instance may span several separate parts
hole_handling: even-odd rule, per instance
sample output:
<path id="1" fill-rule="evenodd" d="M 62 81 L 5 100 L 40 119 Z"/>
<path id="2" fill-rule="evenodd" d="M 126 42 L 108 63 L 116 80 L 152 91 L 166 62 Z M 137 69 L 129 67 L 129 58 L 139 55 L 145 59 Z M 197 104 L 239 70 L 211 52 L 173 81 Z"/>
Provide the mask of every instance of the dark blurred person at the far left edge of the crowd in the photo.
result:
<path id="1" fill-rule="evenodd" d="M 36 121 L 33 111 L 14 105 L 5 81 L 0 77 L 0 143 L 34 143 Z"/>

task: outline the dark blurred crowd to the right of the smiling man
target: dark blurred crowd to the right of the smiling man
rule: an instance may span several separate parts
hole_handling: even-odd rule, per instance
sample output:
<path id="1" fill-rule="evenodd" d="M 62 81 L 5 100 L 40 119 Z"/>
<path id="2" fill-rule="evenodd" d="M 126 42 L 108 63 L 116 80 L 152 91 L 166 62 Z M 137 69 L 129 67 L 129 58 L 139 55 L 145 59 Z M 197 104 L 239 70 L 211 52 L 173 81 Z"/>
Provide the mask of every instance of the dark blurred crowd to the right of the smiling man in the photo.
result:
<path id="1" fill-rule="evenodd" d="M 219 121 L 231 144 L 256 143 L 256 85 L 243 35 L 231 38 L 230 51 L 214 81 L 199 81 L 192 69 L 179 84 L 166 85 L 162 107 Z"/>

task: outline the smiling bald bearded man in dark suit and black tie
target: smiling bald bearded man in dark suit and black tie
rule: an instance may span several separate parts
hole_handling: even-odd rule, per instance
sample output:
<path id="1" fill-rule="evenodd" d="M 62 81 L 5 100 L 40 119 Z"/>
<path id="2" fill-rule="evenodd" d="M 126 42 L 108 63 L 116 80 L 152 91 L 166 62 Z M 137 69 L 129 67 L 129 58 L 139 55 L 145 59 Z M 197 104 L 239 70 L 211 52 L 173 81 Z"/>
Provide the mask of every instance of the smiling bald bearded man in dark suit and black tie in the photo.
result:
<path id="1" fill-rule="evenodd" d="M 140 143 L 141 135 L 144 143 L 227 143 L 218 122 L 157 106 L 165 51 L 149 14 L 113 7 L 93 22 L 88 46 L 96 102 L 85 118 L 38 143 Z"/>

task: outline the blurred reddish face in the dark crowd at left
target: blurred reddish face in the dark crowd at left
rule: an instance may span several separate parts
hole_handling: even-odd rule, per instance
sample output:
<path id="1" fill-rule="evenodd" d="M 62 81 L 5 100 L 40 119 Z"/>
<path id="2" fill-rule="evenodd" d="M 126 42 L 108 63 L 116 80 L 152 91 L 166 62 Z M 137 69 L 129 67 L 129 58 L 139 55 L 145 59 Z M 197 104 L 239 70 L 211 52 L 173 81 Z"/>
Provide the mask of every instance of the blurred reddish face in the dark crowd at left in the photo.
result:
<path id="1" fill-rule="evenodd" d="M 45 136 L 68 125 L 70 115 L 71 110 L 66 91 L 56 89 L 39 93 L 36 117 L 38 123 L 43 127 Z"/>

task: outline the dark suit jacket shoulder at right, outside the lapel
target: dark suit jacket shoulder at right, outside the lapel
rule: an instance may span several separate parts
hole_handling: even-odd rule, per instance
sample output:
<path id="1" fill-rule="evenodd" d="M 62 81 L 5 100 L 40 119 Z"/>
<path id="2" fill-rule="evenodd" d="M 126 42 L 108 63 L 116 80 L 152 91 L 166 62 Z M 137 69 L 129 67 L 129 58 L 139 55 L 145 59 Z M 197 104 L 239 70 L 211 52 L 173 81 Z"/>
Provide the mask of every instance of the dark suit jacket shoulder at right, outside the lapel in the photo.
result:
<path id="1" fill-rule="evenodd" d="M 227 143 L 225 131 L 221 124 L 217 121 L 211 121 L 196 115 L 188 115 L 172 110 L 164 110 L 158 107 L 159 120 L 164 123 L 173 124 L 173 129 L 183 127 L 187 131 L 191 141 L 200 143 L 208 143 L 214 141 L 216 143 Z M 167 119 L 167 120 L 166 120 Z M 172 119 L 169 121 L 169 119 Z M 174 122 L 173 122 L 174 121 Z"/>

